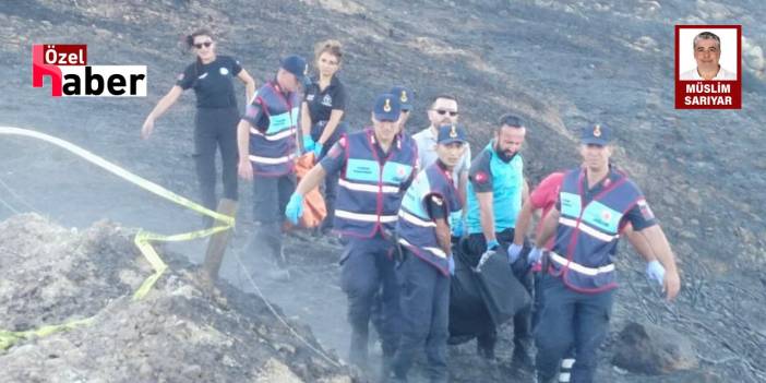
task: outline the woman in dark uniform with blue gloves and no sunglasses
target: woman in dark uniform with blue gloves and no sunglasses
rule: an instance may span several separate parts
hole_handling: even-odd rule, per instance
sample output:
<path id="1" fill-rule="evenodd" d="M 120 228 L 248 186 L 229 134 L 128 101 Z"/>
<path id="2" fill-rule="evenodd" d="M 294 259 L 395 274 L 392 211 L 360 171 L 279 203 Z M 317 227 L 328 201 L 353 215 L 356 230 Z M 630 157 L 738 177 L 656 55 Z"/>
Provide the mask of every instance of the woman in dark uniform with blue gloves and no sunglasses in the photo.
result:
<path id="1" fill-rule="evenodd" d="M 346 133 L 346 123 L 342 121 L 346 110 L 346 88 L 335 75 L 340 69 L 340 49 L 337 40 L 321 41 L 314 47 L 319 75 L 311 79 L 301 106 L 303 149 L 313 151 L 316 161 Z M 325 179 L 324 202 L 327 216 L 320 228 L 323 234 L 333 228 L 337 183 L 337 176 Z"/>

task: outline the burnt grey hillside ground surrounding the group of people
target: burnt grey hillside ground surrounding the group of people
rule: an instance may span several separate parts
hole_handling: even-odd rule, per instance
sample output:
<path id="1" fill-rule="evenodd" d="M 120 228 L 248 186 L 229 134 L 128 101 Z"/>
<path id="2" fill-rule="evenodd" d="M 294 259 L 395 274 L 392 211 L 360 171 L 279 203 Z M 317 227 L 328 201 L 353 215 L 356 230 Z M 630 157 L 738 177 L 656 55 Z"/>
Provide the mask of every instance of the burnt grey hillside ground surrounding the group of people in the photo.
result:
<path id="1" fill-rule="evenodd" d="M 0 4 L 0 124 L 63 137 L 194 196 L 193 96 L 158 120 L 152 140 L 140 141 L 137 132 L 191 60 L 179 40 L 199 25 L 218 32 L 219 51 L 238 57 L 259 83 L 272 75 L 278 57 L 310 56 L 314 41 L 340 39 L 347 51 L 342 75 L 351 95 L 348 121 L 355 127 L 367 123 L 373 96 L 395 83 L 417 92 L 411 131 L 426 124 L 430 96 L 458 94 L 475 152 L 486 144 L 495 116 L 522 113 L 530 125 L 525 157 L 532 183 L 576 164 L 578 129 L 605 122 L 617 130 L 618 163 L 642 185 L 663 224 L 684 283 L 678 302 L 665 304 L 643 280 L 641 262 L 624 252 L 612 331 L 627 319 L 674 328 L 692 338 L 703 362 L 683 374 L 627 373 L 609 363 L 609 342 L 599 375 L 610 382 L 757 382 L 766 376 L 759 366 L 766 349 L 766 141 L 759 113 L 766 85 L 757 59 L 766 46 L 764 16 L 759 3 L 747 0 L 10 2 Z M 742 110 L 673 109 L 673 25 L 695 23 L 743 25 Z M 93 64 L 147 64 L 149 96 L 53 99 L 48 88 L 29 85 L 31 45 L 40 43 L 87 44 Z M 193 214 L 46 144 L 2 136 L 0 148 L 0 198 L 9 205 L 0 207 L 0 217 L 13 208 L 39 212 L 67 227 L 109 218 L 160 232 L 200 224 Z M 235 249 L 243 247 L 251 208 L 250 188 L 240 190 Z M 203 246 L 170 248 L 199 262 Z M 291 239 L 288 247 L 294 279 L 256 280 L 268 299 L 345 356 L 337 248 L 310 238 Z M 224 267 L 238 284 L 242 272 L 231 256 Z M 507 336 L 503 342 L 507 346 Z M 481 364 L 471 346 L 451 350 L 456 380 L 507 380 L 511 347 L 501 347 L 498 366 L 476 368 Z"/>

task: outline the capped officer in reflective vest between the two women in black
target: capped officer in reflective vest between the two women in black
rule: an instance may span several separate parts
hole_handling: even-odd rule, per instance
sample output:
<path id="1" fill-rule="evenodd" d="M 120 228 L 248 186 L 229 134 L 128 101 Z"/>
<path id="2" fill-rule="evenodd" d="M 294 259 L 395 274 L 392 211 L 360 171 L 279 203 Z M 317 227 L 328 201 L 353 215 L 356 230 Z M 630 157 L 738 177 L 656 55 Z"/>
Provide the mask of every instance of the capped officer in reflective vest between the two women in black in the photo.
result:
<path id="1" fill-rule="evenodd" d="M 280 62 L 274 80 L 265 83 L 246 107 L 237 127 L 239 176 L 253 182 L 253 220 L 255 230 L 248 252 L 261 244 L 275 259 L 279 277 L 289 278 L 282 249 L 282 223 L 285 205 L 295 190 L 296 132 L 300 97 L 308 65 L 299 56 Z"/>

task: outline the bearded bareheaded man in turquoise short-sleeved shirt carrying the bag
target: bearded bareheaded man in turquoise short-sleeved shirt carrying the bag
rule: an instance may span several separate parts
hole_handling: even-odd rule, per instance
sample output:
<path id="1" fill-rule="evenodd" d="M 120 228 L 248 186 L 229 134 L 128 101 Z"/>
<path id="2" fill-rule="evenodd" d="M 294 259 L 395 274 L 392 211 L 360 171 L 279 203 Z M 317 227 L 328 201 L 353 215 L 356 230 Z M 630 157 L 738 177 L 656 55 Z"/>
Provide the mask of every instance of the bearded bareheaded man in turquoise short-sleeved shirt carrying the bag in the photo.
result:
<path id="1" fill-rule="evenodd" d="M 494 137 L 474 159 L 468 184 L 466 226 L 467 253 L 474 265 L 482 258 L 493 256 L 501 246 L 513 242 L 516 216 L 527 199 L 524 179 L 524 159 L 520 148 L 526 136 L 522 119 L 514 115 L 500 118 Z M 503 254 L 503 256 L 506 256 Z M 531 277 L 526 270 L 515 268 L 516 277 L 531 292 Z M 531 368 L 528 348 L 531 344 L 530 308 L 520 310 L 513 319 L 513 361 Z M 486 359 L 494 359 L 498 331 L 484 328 L 477 339 L 477 351 Z"/>

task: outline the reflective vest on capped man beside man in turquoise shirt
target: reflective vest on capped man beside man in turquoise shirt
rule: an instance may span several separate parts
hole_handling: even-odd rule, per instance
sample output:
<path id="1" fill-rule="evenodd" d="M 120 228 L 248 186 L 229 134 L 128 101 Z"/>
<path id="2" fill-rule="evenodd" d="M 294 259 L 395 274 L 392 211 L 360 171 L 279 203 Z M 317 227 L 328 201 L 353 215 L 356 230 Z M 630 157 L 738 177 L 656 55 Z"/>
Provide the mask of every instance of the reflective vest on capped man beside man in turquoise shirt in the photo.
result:
<path id="1" fill-rule="evenodd" d="M 438 163 L 419 172 L 407 189 L 402 200 L 396 231 L 400 244 L 447 276 L 448 254 L 439 246 L 436 224 L 428 214 L 427 199 L 431 195 L 439 195 L 444 200 L 445 220 L 448 213 L 459 212 L 462 207 L 452 175 L 444 171 Z"/>

